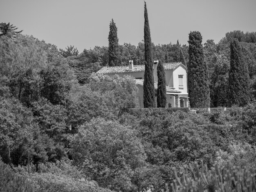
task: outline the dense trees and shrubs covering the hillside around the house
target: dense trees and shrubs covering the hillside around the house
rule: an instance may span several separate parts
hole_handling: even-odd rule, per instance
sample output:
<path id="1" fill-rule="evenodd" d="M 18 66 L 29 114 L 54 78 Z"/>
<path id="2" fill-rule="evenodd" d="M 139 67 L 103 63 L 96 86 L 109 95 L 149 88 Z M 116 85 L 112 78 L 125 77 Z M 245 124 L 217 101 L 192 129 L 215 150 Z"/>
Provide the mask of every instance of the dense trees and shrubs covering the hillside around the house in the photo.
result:
<path id="1" fill-rule="evenodd" d="M 22 178 L 22 187 L 33 185 L 35 191 L 137 192 L 159 191 L 174 181 L 173 167 L 180 177 L 184 165 L 196 169 L 194 161 L 256 174 L 255 42 L 240 42 L 249 64 L 251 104 L 194 114 L 126 109 L 135 100 L 135 80 L 93 74 L 107 65 L 108 47 L 65 58 L 55 45 L 8 34 L 0 36 L 0 167 L 11 168 L 0 171 L 1 177 Z M 211 106 L 227 105 L 228 35 L 204 45 Z M 141 64 L 142 45 L 119 45 L 122 64 Z M 180 61 L 182 49 L 188 60 L 186 45 L 152 48 L 153 58 Z"/>

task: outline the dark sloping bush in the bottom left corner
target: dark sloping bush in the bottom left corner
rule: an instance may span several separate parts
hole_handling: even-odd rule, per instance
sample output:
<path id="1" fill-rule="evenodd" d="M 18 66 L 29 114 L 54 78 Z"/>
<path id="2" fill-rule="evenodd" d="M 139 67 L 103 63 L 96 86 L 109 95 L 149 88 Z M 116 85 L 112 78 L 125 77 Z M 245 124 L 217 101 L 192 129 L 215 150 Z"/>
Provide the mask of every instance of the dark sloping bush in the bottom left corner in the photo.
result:
<path id="1" fill-rule="evenodd" d="M 33 192 L 35 191 L 31 182 L 24 176 L 14 173 L 9 165 L 0 160 L 0 191 L 1 192 Z"/>

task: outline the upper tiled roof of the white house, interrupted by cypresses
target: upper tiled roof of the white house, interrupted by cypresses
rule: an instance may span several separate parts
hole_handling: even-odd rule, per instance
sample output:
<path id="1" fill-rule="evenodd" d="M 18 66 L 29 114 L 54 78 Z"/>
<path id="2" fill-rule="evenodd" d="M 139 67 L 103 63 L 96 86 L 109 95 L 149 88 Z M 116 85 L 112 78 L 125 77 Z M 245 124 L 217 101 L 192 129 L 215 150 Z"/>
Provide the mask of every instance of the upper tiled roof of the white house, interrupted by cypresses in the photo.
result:
<path id="1" fill-rule="evenodd" d="M 164 70 L 173 70 L 182 65 L 181 62 L 176 63 L 164 63 Z M 186 68 L 186 66 L 184 66 Z M 102 67 L 96 74 L 122 74 L 122 73 L 136 73 L 144 72 L 145 65 L 133 65 L 133 70 L 129 70 L 129 66 L 114 66 L 114 67 Z"/>

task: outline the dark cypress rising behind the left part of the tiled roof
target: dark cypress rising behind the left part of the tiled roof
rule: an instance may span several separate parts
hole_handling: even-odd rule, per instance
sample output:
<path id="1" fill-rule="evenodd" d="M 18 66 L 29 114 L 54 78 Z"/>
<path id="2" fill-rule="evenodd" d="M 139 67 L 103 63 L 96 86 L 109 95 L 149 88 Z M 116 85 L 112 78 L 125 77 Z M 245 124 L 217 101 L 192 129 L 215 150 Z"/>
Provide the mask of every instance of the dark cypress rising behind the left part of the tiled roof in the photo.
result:
<path id="1" fill-rule="evenodd" d="M 113 19 L 110 22 L 108 34 L 108 65 L 120 65 L 120 51 L 117 38 L 117 27 Z"/>

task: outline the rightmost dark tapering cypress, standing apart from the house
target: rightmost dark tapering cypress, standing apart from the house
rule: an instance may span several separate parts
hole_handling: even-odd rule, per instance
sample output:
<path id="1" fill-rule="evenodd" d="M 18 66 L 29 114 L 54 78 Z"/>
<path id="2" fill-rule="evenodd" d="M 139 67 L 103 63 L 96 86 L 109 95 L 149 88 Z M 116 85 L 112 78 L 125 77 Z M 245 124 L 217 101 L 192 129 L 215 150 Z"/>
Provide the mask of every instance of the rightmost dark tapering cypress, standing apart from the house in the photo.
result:
<path id="1" fill-rule="evenodd" d="M 244 106 L 249 102 L 249 72 L 238 39 L 230 42 L 229 106 Z"/>

